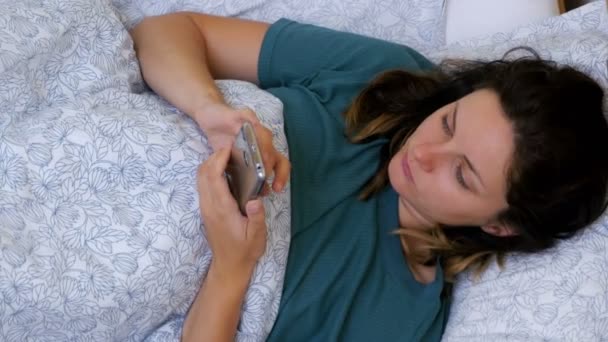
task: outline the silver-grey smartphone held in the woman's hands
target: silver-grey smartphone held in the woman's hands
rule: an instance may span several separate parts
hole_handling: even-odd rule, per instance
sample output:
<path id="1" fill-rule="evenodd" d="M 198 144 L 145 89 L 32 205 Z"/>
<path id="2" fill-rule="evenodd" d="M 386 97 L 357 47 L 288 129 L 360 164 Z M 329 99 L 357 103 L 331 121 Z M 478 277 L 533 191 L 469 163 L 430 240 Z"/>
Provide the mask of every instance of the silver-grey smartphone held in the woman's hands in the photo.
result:
<path id="1" fill-rule="evenodd" d="M 266 182 L 262 153 L 253 125 L 249 122 L 243 124 L 236 136 L 226 167 L 226 179 L 232 196 L 245 215 L 245 205 L 260 195 Z"/>

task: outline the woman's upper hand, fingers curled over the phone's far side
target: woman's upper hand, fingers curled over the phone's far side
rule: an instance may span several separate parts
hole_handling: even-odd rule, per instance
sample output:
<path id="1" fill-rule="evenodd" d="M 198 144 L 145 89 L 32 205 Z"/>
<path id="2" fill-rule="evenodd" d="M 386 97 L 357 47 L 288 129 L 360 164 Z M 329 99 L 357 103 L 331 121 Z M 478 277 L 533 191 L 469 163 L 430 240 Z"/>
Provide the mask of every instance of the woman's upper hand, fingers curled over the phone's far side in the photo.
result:
<path id="1" fill-rule="evenodd" d="M 220 102 L 210 102 L 199 108 L 195 120 L 207 135 L 214 151 L 230 149 L 243 122 L 249 121 L 255 130 L 267 177 L 274 174 L 272 189 L 280 192 L 289 179 L 291 164 L 272 144 L 272 132 L 264 127 L 251 109 L 235 109 Z"/>

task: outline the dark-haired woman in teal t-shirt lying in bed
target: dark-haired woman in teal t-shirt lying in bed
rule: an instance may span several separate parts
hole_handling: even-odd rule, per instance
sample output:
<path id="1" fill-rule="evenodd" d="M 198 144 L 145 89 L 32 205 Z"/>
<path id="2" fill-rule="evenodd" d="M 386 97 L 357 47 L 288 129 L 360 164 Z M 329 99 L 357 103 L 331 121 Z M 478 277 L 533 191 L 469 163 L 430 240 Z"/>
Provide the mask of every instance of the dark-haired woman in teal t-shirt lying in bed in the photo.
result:
<path id="1" fill-rule="evenodd" d="M 261 202 L 241 216 L 222 177 L 243 120 L 256 125 L 273 190 L 290 173 L 215 78 L 256 82 L 284 103 L 292 242 L 272 341 L 439 340 L 445 281 L 547 248 L 606 207 L 608 160 L 592 153 L 608 146 L 603 92 L 571 68 L 438 71 L 397 44 L 194 13 L 146 18 L 132 36 L 146 82 L 217 151 L 199 172 L 214 257 L 184 341 L 234 338 L 264 251 Z"/>

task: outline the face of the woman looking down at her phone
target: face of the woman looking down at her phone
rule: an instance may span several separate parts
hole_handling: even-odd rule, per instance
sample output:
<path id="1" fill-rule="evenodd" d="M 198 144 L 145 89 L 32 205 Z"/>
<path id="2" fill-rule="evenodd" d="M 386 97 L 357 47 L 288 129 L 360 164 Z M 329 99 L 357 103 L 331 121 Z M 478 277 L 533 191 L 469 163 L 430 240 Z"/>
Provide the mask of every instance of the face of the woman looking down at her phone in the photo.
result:
<path id="1" fill-rule="evenodd" d="M 492 224 L 507 207 L 513 128 L 498 95 L 478 90 L 426 118 L 390 161 L 404 227 Z"/>

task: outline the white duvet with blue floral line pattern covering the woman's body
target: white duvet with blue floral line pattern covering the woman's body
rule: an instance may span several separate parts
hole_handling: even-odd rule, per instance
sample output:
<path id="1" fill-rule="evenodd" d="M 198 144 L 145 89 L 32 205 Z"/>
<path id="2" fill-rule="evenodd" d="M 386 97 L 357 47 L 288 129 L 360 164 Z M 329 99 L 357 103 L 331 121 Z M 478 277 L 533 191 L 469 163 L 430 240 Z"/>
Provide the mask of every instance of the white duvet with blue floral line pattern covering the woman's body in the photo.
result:
<path id="1" fill-rule="evenodd" d="M 0 8 L 0 340 L 179 341 L 211 260 L 195 188 L 205 136 L 145 88 L 108 1 Z M 280 101 L 218 84 L 287 154 Z M 280 300 L 289 190 L 265 205 L 240 341 L 264 339 Z"/>

